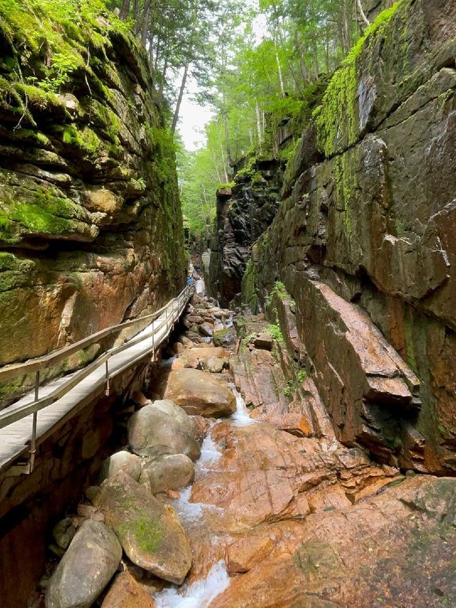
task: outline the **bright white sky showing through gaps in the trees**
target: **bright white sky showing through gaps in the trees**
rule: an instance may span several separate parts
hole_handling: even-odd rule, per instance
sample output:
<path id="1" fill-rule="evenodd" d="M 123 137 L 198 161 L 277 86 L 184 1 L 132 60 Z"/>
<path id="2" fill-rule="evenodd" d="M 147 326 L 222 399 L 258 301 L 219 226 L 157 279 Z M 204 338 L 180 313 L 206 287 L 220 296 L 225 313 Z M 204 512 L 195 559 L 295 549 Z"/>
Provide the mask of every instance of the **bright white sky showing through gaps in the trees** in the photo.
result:
<path id="1" fill-rule="evenodd" d="M 250 0 L 248 4 L 256 4 Z M 264 16 L 259 16 L 253 23 L 253 29 L 257 43 L 264 37 L 266 29 L 266 20 Z M 180 78 L 177 78 L 177 86 L 180 85 Z M 190 78 L 188 86 L 182 99 L 180 108 L 179 132 L 182 136 L 185 148 L 187 150 L 197 150 L 204 145 L 206 140 L 204 135 L 204 125 L 212 118 L 212 110 L 209 106 L 201 106 L 192 101 L 192 96 L 197 91 L 197 83 Z"/>

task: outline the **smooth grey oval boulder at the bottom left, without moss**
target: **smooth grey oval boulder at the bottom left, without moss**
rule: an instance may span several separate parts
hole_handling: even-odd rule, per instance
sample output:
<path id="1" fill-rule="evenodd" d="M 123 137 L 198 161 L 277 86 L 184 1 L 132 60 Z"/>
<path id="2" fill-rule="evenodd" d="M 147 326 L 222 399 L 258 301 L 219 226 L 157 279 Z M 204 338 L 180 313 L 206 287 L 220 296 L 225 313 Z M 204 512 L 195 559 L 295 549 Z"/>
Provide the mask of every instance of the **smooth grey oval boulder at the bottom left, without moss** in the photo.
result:
<path id="1" fill-rule="evenodd" d="M 122 549 L 113 530 L 101 522 L 86 520 L 49 581 L 46 608 L 90 608 L 121 558 Z"/>

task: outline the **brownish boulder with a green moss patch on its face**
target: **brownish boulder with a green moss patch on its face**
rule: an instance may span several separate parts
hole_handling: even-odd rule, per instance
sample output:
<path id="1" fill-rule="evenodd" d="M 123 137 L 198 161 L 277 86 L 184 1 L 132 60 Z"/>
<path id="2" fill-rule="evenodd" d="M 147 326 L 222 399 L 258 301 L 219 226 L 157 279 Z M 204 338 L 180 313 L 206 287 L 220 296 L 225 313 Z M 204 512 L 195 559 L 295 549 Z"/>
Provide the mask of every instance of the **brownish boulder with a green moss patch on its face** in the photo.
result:
<path id="1" fill-rule="evenodd" d="M 182 584 L 192 565 L 192 551 L 170 505 L 163 505 L 143 485 L 119 471 L 103 483 L 98 506 L 134 564 Z"/>

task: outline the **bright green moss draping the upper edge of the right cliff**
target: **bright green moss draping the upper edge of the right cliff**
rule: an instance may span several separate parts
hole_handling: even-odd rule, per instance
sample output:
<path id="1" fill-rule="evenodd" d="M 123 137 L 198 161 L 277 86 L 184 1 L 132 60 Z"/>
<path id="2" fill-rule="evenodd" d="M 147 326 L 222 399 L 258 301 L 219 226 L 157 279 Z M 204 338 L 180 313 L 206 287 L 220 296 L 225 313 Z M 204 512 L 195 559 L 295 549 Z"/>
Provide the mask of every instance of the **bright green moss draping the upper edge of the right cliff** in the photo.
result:
<path id="1" fill-rule="evenodd" d="M 317 143 L 321 153 L 327 157 L 338 152 L 338 142 L 344 125 L 347 127 L 347 145 L 353 145 L 358 139 L 358 58 L 361 56 L 366 43 L 370 43 L 383 33 L 390 20 L 404 0 L 398 0 L 380 13 L 373 24 L 366 29 L 363 36 L 353 46 L 343 61 L 341 68 L 336 71 L 328 89 L 323 96 L 321 108 L 314 110 L 314 120 L 317 128 Z"/>

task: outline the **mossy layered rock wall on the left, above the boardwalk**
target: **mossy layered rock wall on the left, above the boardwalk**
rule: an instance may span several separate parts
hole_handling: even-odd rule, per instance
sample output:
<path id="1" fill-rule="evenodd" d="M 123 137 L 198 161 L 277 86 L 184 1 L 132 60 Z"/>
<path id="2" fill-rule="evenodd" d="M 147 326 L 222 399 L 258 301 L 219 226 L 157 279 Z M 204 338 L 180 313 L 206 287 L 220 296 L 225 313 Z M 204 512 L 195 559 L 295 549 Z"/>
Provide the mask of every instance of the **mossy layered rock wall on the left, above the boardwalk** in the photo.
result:
<path id="1" fill-rule="evenodd" d="M 0 365 L 152 311 L 185 279 L 145 50 L 98 1 L 27 6 L 0 6 Z M 21 383 L 0 387 L 4 403 Z"/>

